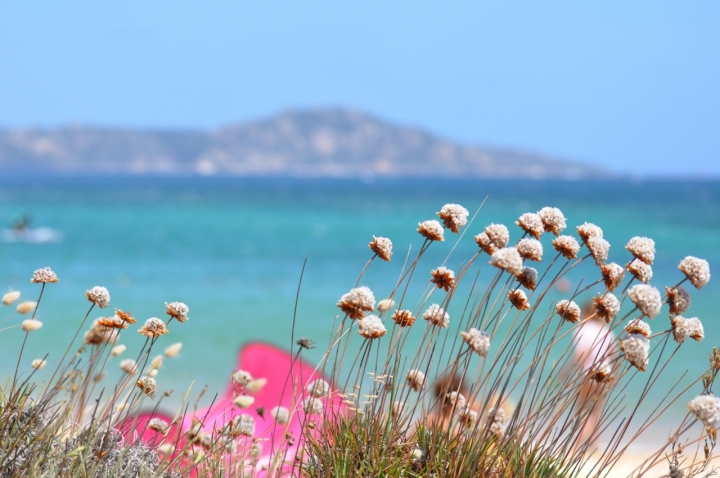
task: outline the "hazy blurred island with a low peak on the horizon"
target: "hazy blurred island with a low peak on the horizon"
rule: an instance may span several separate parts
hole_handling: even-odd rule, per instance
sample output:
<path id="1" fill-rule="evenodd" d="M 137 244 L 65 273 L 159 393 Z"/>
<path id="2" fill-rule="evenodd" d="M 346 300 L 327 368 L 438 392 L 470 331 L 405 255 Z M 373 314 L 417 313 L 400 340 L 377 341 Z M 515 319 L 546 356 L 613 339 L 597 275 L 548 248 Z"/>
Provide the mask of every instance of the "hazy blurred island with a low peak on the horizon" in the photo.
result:
<path id="1" fill-rule="evenodd" d="M 0 130 L 5 173 L 291 177 L 610 178 L 602 168 L 456 144 L 348 109 L 287 111 L 216 131 Z"/>

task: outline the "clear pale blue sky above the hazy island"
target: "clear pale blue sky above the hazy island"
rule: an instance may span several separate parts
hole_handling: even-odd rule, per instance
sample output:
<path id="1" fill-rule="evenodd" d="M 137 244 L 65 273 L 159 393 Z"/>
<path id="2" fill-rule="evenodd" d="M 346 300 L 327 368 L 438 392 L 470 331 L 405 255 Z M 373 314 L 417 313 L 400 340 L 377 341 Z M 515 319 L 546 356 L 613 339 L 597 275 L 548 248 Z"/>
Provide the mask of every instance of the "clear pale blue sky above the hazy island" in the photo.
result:
<path id="1" fill-rule="evenodd" d="M 720 177 L 720 2 L 0 0 L 0 128 L 349 107 L 465 144 Z"/>

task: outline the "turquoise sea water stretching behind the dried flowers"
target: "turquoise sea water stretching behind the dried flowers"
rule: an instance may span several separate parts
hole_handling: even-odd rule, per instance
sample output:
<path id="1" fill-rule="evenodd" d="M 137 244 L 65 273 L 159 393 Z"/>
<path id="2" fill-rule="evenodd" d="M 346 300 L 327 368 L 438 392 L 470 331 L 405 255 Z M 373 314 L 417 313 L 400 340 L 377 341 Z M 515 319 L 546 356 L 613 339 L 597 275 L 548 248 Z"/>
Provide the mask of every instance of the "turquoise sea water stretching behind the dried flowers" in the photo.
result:
<path id="1" fill-rule="evenodd" d="M 624 249 L 630 237 L 653 238 L 657 258 L 652 284 L 661 290 L 680 280 L 676 267 L 686 255 L 705 258 L 711 270 L 720 270 L 718 182 L 3 178 L 0 221 L 10 224 L 14 216 L 30 213 L 33 227 L 60 231 L 63 239 L 0 243 L 0 287 L 14 287 L 25 299 L 36 299 L 40 287 L 29 283 L 35 269 L 50 266 L 61 279 L 46 288 L 38 311 L 45 325 L 30 336 L 24 355 L 28 364 L 45 353 L 50 365 L 59 359 L 88 309 L 84 292 L 92 286 L 107 287 L 111 306 L 141 320 L 163 317 L 166 301 L 183 301 L 191 320 L 173 324 L 161 346 L 182 341 L 184 348 L 179 359 L 166 361 L 158 377 L 161 387 L 182 390 L 196 381 L 198 388 L 207 384 L 210 391 L 221 391 L 242 343 L 290 346 L 306 257 L 295 333 L 318 343 L 309 352 L 318 360 L 338 313 L 335 303 L 354 286 L 370 258 L 367 243 L 373 234 L 391 238 L 395 251 L 391 263 L 376 261 L 362 281 L 380 299 L 397 280 L 408 248 L 419 248 L 419 221 L 435 217 L 448 202 L 472 213 L 483 201 L 468 235 L 448 259 L 451 269 L 459 269 L 475 253 L 471 236 L 487 224 L 508 225 L 511 240 L 517 240 L 521 234 L 513 222 L 520 214 L 556 206 L 568 218 L 568 233 L 585 221 L 600 225 L 612 244 L 610 260 L 618 263 L 630 258 Z M 455 246 L 457 236 L 450 236 L 423 257 L 418 274 L 425 275 L 418 275 L 411 287 L 408 305 L 420 299 L 429 271 Z M 546 260 L 554 257 L 550 240 L 543 238 Z M 476 267 L 487 268 L 487 259 L 483 256 Z M 584 276 L 595 280 L 597 269 L 588 265 L 573 271 L 572 285 Z M 480 277 L 482 287 L 490 276 Z M 703 321 L 706 338 L 681 347 L 661 376 L 666 384 L 686 369 L 699 374 L 712 346 L 720 345 L 720 280 L 691 292 L 687 315 Z M 451 304 L 451 316 L 464 304 L 465 297 Z M 0 320 L 13 310 L 0 309 Z M 668 328 L 665 310 L 652 322 L 654 331 Z M 91 318 L 100 315 L 96 310 Z M 10 317 L 0 328 L 20 321 Z M 413 333 L 411 343 L 421 335 Z M 451 327 L 449 333 L 457 330 Z M 17 327 L 0 332 L 5 376 L 12 374 L 21 340 Z M 133 350 L 142 337 L 128 330 L 121 342 Z M 39 377 L 49 378 L 50 369 Z M 684 407 L 677 413 L 684 413 Z"/>

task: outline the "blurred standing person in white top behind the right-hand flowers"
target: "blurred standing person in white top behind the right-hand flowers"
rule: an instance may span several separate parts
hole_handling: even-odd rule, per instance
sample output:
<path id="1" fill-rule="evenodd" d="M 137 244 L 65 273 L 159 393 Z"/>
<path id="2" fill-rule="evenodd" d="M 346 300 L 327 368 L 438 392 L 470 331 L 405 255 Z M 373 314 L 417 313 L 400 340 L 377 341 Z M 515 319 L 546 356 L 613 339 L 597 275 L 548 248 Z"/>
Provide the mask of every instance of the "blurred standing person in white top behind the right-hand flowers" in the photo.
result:
<path id="1" fill-rule="evenodd" d="M 592 445 L 597 440 L 596 428 L 600 422 L 605 404 L 607 381 L 592 377 L 592 373 L 603 365 L 615 344 L 615 336 L 605 324 L 605 320 L 594 314 L 592 301 L 586 302 L 582 309 L 583 323 L 573 335 L 575 363 L 581 367 L 581 388 L 577 397 L 576 412 L 586 415 L 577 444 Z M 588 450 L 590 451 L 590 450 Z"/>

